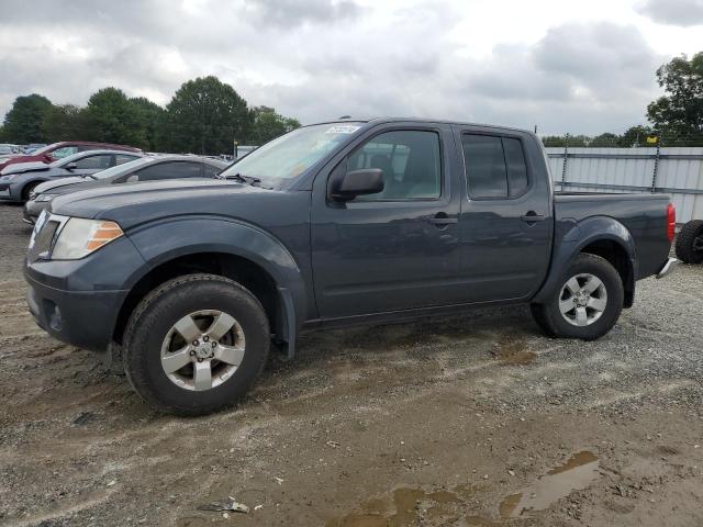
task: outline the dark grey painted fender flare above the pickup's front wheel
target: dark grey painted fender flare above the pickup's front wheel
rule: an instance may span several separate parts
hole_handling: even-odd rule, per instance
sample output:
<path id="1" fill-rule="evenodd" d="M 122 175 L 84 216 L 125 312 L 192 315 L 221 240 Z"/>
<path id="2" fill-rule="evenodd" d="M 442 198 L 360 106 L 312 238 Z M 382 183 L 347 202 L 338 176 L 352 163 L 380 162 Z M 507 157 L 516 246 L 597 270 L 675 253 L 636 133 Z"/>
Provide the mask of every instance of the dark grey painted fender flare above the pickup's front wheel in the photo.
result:
<path id="1" fill-rule="evenodd" d="M 217 253 L 247 259 L 261 268 L 277 290 L 282 315 L 277 337 L 288 343 L 288 356 L 292 357 L 306 314 L 305 280 L 292 254 L 278 238 L 255 225 L 211 215 L 171 216 L 125 234 L 146 262 L 125 282 L 130 290 L 156 267 L 183 256 Z"/>

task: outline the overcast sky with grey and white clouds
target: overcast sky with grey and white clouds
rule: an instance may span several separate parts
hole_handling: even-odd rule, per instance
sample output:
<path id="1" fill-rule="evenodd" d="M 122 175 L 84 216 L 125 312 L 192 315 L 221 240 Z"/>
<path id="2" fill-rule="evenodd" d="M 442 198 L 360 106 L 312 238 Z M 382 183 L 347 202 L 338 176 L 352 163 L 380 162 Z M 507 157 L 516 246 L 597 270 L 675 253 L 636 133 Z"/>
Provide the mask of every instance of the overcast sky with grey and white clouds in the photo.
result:
<path id="1" fill-rule="evenodd" d="M 656 68 L 703 51 L 703 0 L 2 0 L 0 115 L 99 88 L 168 103 L 216 75 L 303 123 L 420 115 L 621 132 Z"/>

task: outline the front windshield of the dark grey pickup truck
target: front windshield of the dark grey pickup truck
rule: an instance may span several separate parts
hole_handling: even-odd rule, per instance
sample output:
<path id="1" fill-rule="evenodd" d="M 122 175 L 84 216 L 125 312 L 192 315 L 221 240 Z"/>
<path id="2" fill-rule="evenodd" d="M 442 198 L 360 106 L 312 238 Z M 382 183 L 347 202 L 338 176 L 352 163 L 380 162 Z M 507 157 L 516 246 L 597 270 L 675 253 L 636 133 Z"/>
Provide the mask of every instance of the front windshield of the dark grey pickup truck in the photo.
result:
<path id="1" fill-rule="evenodd" d="M 280 187 L 294 180 L 360 127 L 361 123 L 345 122 L 294 130 L 243 157 L 220 176 L 238 173 L 260 179 L 263 187 Z"/>

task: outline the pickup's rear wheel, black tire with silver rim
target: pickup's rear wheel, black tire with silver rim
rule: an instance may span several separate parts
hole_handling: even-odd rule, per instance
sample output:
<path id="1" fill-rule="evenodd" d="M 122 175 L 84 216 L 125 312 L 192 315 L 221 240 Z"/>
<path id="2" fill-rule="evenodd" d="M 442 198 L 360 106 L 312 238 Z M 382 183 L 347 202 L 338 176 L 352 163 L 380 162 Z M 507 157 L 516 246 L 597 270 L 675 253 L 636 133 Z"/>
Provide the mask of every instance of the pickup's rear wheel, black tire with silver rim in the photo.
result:
<path id="1" fill-rule="evenodd" d="M 595 277 L 598 281 L 591 282 L 589 277 Z M 584 295 L 599 281 L 600 285 L 590 295 Z M 549 296 L 545 303 L 531 305 L 535 323 L 546 335 L 594 340 L 610 332 L 620 317 L 624 299 L 623 282 L 606 259 L 581 254 Z M 566 311 L 570 306 L 573 306 L 571 311 Z"/>

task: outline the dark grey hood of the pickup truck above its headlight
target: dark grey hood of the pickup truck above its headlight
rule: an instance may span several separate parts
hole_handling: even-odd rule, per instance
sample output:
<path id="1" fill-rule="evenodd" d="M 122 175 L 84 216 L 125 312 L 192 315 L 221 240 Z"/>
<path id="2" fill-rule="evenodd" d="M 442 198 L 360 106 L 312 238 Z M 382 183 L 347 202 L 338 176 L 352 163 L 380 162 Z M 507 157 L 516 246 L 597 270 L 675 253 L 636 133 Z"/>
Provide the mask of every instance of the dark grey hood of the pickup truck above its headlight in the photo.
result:
<path id="1" fill-rule="evenodd" d="M 51 210 L 65 216 L 113 220 L 127 229 L 182 214 L 233 215 L 235 200 L 258 201 L 257 194 L 271 197 L 278 193 L 232 180 L 175 179 L 81 189 L 57 197 Z"/>

